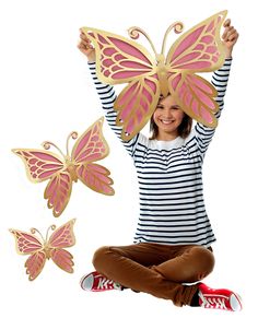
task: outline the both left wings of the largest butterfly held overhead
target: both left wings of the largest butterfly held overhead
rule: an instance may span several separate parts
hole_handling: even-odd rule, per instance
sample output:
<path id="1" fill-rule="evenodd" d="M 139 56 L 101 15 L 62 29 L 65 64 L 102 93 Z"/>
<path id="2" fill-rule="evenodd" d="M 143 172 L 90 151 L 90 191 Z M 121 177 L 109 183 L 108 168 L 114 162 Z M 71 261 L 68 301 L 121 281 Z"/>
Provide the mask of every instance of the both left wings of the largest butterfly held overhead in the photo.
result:
<path id="1" fill-rule="evenodd" d="M 96 73 L 108 84 L 129 83 L 115 102 L 121 138 L 133 138 L 150 119 L 160 96 L 156 61 L 138 43 L 105 31 L 84 27 L 96 49 Z"/>

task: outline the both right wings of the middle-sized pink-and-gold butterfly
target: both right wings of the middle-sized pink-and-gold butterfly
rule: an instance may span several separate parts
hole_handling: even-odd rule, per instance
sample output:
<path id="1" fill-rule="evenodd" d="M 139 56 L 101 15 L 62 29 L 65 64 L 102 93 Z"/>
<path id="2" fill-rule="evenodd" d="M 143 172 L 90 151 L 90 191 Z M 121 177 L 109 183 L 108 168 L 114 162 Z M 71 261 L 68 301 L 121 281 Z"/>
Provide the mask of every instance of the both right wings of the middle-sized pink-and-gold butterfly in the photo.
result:
<path id="1" fill-rule="evenodd" d="M 109 153 L 108 144 L 103 136 L 103 117 L 94 122 L 77 141 L 72 150 L 72 161 L 77 164 L 79 179 L 89 188 L 103 195 L 114 195 L 109 170 L 93 164 L 106 157 Z"/>

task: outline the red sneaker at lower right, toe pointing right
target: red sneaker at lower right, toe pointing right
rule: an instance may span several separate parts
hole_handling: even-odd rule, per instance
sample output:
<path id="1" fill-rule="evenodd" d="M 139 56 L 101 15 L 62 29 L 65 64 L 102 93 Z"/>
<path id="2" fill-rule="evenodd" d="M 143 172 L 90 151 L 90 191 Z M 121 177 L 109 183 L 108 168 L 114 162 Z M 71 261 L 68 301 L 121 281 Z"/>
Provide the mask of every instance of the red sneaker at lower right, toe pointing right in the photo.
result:
<path id="1" fill-rule="evenodd" d="M 203 308 L 242 310 L 241 297 L 228 290 L 214 290 L 201 283 L 199 285 L 199 304 Z"/>

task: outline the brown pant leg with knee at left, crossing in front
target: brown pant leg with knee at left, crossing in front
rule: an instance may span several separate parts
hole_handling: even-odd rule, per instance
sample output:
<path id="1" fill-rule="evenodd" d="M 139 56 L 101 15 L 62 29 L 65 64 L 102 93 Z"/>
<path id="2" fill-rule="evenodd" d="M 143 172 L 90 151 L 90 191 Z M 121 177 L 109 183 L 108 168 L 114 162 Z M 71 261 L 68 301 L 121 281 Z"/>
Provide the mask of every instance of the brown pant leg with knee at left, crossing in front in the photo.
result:
<path id="1" fill-rule="evenodd" d="M 168 246 L 144 243 L 102 247 L 95 252 L 93 264 L 99 273 L 126 287 L 171 299 L 176 306 L 189 305 L 198 286 L 173 282 L 159 271 L 157 264 L 169 257 Z"/>

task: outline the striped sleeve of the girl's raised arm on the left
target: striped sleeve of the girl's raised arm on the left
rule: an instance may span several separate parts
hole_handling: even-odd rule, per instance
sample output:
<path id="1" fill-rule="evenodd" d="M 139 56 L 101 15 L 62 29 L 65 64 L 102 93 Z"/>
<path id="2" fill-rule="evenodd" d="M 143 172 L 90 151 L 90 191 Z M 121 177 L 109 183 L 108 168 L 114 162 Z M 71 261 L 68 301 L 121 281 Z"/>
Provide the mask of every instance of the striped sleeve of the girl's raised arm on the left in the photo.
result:
<path id="1" fill-rule="evenodd" d="M 116 117 L 117 117 L 117 111 L 114 109 L 114 103 L 116 101 L 116 93 L 115 90 L 112 85 L 109 84 L 103 84 L 99 82 L 97 75 L 96 75 L 96 66 L 95 62 L 89 62 L 90 67 L 90 72 L 94 82 L 94 85 L 96 87 L 96 92 L 99 96 L 101 103 L 102 103 L 102 108 L 105 114 L 105 118 L 112 128 L 112 130 L 115 132 L 115 134 L 120 139 L 121 143 L 128 151 L 128 153 L 133 156 L 133 152 L 136 149 L 136 144 L 139 139 L 139 133 L 132 138 L 130 141 L 124 141 L 121 140 L 121 127 L 118 127 L 116 125 Z"/>

